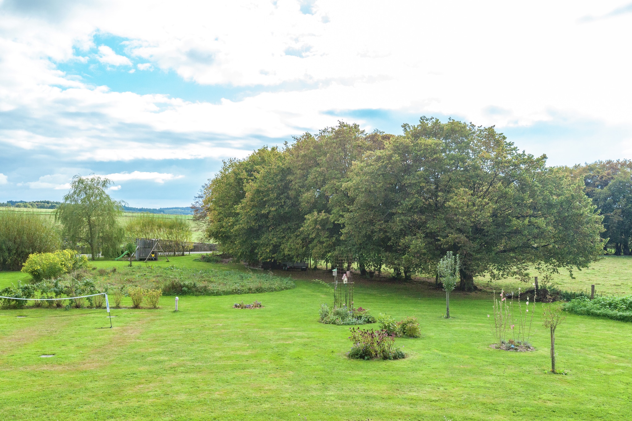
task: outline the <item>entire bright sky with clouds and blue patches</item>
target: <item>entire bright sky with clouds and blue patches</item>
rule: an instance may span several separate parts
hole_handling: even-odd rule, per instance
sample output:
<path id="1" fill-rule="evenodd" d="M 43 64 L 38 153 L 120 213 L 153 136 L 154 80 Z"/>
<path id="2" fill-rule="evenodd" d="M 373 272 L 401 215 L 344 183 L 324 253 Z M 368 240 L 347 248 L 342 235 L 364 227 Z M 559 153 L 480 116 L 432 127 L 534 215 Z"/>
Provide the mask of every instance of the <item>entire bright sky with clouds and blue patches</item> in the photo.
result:
<path id="1" fill-rule="evenodd" d="M 188 206 L 222 160 L 337 121 L 632 158 L 631 35 L 626 1 L 3 0 L 0 201 L 97 174 L 130 206 Z"/>

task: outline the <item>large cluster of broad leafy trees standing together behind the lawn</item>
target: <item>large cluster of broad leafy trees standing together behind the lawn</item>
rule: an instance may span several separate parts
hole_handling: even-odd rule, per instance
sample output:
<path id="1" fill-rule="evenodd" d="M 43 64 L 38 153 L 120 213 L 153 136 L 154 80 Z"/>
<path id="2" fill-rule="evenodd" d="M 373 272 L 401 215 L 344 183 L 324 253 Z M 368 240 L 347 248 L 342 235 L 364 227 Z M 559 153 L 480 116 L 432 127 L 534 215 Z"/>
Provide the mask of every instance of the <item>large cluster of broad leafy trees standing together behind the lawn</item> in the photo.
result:
<path id="1" fill-rule="evenodd" d="M 494 127 L 422 117 L 403 134 L 340 122 L 284 148 L 228 160 L 193 206 L 209 238 L 244 261 L 353 256 L 362 271 L 433 273 L 459 254 L 474 276 L 586 267 L 602 216 L 568 170 Z"/>

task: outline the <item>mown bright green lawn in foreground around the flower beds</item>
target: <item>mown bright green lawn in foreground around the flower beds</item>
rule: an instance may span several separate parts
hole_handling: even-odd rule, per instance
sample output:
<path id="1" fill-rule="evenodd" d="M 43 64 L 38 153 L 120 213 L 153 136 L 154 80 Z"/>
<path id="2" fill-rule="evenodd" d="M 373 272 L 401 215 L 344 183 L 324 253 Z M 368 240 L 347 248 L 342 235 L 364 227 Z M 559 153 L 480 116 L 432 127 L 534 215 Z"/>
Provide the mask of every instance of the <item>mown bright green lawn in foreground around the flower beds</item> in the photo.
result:
<path id="1" fill-rule="evenodd" d="M 554 376 L 545 374 L 549 335 L 538 318 L 534 352 L 489 348 L 489 294 L 451 295 L 454 317 L 446 320 L 440 291 L 360 281 L 356 305 L 416 316 L 423 336 L 397 340 L 409 354 L 404 360 L 348 360 L 348 327 L 317 323 L 319 304 L 331 303 L 327 289 L 296 284 L 266 294 L 180 297 L 177 313 L 173 297 L 162 297 L 158 310 L 113 309 L 113 329 L 97 329 L 107 325 L 104 313 L 0 317 L 3 419 L 632 417 L 631 324 L 569 314 L 556 347 L 559 368 L 569 374 Z M 265 308 L 232 309 L 241 299 Z M 47 353 L 55 356 L 40 358 Z"/>

